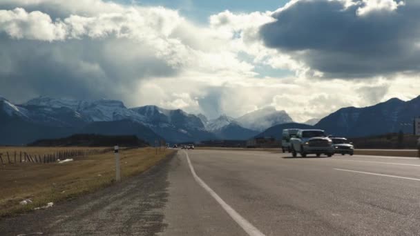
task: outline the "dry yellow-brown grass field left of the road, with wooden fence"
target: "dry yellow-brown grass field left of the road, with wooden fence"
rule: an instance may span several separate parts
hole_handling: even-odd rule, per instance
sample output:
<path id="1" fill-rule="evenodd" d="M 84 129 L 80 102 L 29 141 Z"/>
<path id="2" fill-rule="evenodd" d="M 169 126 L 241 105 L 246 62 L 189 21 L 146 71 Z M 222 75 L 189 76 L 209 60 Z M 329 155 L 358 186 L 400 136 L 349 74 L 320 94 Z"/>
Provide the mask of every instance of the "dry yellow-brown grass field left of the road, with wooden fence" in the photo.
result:
<path id="1" fill-rule="evenodd" d="M 75 148 L 0 148 L 0 153 L 54 153 Z M 86 148 L 93 149 L 93 148 Z M 101 148 L 95 148 L 101 149 Z M 102 148 L 104 149 L 104 148 Z M 136 175 L 175 153 L 175 150 L 158 151 L 154 148 L 120 150 L 122 179 Z M 78 195 L 109 186 L 115 181 L 113 152 L 77 158 L 64 164 L 11 164 L 0 166 L 0 217 L 23 213 L 48 202 L 57 203 Z M 21 205 L 23 199 L 32 204 Z"/>

